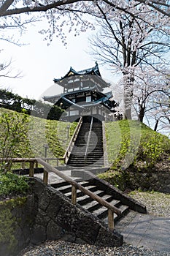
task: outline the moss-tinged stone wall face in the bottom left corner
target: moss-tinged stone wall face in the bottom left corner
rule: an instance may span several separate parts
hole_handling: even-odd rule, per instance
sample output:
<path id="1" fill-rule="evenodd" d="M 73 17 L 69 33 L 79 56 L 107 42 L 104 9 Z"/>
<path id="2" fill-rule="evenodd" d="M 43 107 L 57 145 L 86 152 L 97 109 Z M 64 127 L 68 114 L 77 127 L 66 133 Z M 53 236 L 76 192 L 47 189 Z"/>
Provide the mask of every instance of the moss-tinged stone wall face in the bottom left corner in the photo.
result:
<path id="1" fill-rule="evenodd" d="M 30 243 L 34 195 L 0 202 L 0 255 L 18 255 Z"/>

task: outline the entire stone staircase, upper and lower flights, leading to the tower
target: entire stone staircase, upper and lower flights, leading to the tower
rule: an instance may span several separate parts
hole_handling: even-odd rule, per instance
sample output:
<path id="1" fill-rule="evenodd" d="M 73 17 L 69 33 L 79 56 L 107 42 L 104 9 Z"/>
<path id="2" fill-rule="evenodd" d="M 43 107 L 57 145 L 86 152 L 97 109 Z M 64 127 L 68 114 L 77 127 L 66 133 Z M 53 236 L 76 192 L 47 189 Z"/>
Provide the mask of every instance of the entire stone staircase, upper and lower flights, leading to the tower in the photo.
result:
<path id="1" fill-rule="evenodd" d="M 89 135 L 90 133 L 90 135 Z M 90 137 L 90 140 L 89 138 Z M 89 141 L 88 141 L 89 140 Z M 85 159 L 85 154 L 87 157 Z M 114 222 L 123 218 L 129 211 L 139 211 L 146 213 L 146 208 L 135 202 L 131 197 L 123 195 L 119 189 L 116 189 L 109 183 L 96 178 L 94 174 L 104 171 L 104 150 L 103 150 L 103 131 L 101 121 L 91 119 L 84 120 L 74 143 L 74 147 L 69 156 L 67 166 L 72 167 L 72 177 L 79 177 L 77 182 L 86 189 L 93 192 L 101 199 L 106 200 L 112 206 L 115 206 L 120 214 L 114 214 Z M 59 192 L 72 199 L 72 185 L 67 182 L 51 184 Z M 103 220 L 108 224 L 108 209 L 101 206 L 96 200 L 77 190 L 77 204 L 82 206 L 85 211 L 93 214 L 94 217 Z"/>

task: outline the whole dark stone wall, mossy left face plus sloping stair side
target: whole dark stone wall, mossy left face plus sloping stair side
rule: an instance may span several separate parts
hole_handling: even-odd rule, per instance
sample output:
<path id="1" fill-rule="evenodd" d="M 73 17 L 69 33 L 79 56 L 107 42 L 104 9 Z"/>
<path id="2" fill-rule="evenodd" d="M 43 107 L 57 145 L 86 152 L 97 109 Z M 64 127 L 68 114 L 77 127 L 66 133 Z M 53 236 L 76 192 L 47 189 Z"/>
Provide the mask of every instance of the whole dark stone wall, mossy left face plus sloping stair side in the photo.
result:
<path id="1" fill-rule="evenodd" d="M 28 244 L 63 239 L 99 246 L 121 246 L 123 236 L 61 192 L 32 178 L 31 195 L 0 203 L 0 255 L 15 256 Z M 5 219 L 5 220 L 4 220 Z"/>

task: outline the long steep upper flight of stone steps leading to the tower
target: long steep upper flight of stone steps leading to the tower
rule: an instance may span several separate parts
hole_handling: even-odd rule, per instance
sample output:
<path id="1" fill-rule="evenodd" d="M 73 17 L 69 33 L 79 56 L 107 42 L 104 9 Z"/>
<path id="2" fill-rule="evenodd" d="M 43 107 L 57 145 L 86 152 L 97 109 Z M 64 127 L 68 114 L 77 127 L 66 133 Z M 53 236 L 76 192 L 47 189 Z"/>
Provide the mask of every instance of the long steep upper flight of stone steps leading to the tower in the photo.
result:
<path id="1" fill-rule="evenodd" d="M 103 167 L 104 151 L 101 121 L 93 121 L 90 140 L 88 143 L 88 135 L 90 132 L 90 122 L 82 122 L 82 127 L 74 143 L 72 153 L 69 156 L 67 165 L 72 167 Z M 88 143 L 88 147 L 87 147 Z M 87 156 L 85 157 L 85 151 Z"/>

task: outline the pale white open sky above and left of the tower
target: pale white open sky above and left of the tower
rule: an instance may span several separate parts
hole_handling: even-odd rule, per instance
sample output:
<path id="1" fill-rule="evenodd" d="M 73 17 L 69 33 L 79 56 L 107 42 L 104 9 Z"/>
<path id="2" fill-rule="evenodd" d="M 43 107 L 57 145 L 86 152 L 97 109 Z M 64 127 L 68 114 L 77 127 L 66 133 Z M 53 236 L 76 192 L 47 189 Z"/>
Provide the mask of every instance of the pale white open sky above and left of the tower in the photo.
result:
<path id="1" fill-rule="evenodd" d="M 0 78 L 1 88 L 30 99 L 50 96 L 51 93 L 60 94 L 61 88 L 54 86 L 53 78 L 61 78 L 71 66 L 79 71 L 95 66 L 96 61 L 88 53 L 88 37 L 95 33 L 94 31 L 82 33 L 79 37 L 69 34 L 67 47 L 57 38 L 47 46 L 47 41 L 43 40 L 44 36 L 38 33 L 39 26 L 40 24 L 28 28 L 20 37 L 20 42 L 26 45 L 19 47 L 6 41 L 1 42 L 1 61 L 11 59 L 12 73 L 22 72 L 20 79 Z M 104 79 L 115 79 L 107 67 L 99 64 L 99 69 Z"/>

